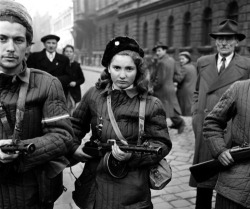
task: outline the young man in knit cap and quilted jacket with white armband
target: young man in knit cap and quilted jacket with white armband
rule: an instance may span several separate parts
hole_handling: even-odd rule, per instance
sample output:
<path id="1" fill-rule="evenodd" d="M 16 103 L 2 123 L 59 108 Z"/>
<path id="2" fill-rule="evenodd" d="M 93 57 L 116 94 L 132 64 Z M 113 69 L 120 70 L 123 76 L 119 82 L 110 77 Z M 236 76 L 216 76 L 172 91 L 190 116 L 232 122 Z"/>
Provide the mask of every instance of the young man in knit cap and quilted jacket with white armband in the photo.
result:
<path id="1" fill-rule="evenodd" d="M 0 0 L 0 208 L 52 209 L 63 191 L 73 129 L 60 81 L 28 68 L 32 20 Z"/>

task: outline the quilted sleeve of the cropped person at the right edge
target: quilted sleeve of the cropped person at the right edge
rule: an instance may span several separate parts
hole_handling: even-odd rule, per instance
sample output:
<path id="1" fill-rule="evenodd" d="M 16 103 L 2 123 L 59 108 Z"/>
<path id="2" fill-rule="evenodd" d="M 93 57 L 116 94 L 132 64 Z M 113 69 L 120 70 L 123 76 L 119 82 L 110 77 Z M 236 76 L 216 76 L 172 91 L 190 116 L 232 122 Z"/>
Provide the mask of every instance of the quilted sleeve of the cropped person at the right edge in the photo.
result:
<path id="1" fill-rule="evenodd" d="M 236 114 L 237 83 L 233 84 L 221 97 L 213 110 L 207 115 L 203 126 L 204 140 L 213 157 L 225 151 L 224 129 L 227 122 Z"/>

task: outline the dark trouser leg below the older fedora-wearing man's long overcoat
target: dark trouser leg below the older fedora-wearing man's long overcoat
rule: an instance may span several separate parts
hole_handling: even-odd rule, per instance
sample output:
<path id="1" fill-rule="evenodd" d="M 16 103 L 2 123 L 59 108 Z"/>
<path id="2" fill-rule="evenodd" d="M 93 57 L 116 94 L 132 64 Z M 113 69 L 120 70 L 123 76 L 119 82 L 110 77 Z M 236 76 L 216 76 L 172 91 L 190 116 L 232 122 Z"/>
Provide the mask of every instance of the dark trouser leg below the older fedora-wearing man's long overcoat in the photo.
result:
<path id="1" fill-rule="evenodd" d="M 195 209 L 212 208 L 213 189 L 197 187 Z"/>

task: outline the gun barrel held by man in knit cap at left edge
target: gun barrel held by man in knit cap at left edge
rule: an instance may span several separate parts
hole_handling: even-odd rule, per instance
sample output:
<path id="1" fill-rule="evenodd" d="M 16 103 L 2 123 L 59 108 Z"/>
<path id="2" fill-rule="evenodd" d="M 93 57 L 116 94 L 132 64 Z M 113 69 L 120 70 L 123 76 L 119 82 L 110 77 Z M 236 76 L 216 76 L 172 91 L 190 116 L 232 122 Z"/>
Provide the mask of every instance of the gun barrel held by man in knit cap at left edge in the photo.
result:
<path id="1" fill-rule="evenodd" d="M 15 153 L 16 151 L 19 151 L 21 154 L 31 154 L 36 150 L 36 146 L 33 143 L 24 144 L 19 142 L 17 144 L 4 145 L 0 147 L 0 149 L 6 153 Z"/>

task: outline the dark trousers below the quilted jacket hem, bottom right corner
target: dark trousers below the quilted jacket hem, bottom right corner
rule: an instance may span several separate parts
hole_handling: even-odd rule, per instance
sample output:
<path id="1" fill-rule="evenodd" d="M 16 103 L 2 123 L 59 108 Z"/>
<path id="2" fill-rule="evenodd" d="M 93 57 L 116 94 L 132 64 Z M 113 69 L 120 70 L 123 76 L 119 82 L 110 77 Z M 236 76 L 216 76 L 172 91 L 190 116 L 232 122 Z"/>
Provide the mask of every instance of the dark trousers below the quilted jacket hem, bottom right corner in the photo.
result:
<path id="1" fill-rule="evenodd" d="M 227 199 L 220 194 L 217 194 L 215 209 L 246 209 L 246 207 L 243 207 L 242 205 L 233 202 L 232 200 Z"/>

